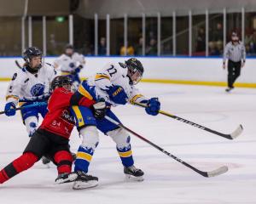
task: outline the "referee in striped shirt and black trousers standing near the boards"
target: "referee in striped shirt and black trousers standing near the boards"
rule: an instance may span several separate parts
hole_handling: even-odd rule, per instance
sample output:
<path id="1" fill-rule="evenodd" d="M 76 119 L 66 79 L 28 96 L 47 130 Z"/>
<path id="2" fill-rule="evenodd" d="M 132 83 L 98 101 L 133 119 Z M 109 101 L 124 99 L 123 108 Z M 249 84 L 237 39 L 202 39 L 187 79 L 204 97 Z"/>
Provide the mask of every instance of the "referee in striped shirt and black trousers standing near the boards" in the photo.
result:
<path id="1" fill-rule="evenodd" d="M 226 92 L 230 92 L 234 88 L 233 84 L 237 77 L 240 76 L 241 67 L 245 65 L 246 50 L 236 34 L 232 32 L 231 41 L 226 44 L 223 56 L 223 68 L 226 67 L 226 59 L 228 59 L 228 88 Z"/>

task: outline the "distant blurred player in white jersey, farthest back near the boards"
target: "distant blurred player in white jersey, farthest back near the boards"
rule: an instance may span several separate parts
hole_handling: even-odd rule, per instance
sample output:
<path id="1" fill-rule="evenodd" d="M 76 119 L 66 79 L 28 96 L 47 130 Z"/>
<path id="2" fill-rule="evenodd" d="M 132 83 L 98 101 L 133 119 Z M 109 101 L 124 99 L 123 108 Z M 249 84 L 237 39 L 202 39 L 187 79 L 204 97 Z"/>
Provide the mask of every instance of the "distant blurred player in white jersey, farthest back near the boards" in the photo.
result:
<path id="1" fill-rule="evenodd" d="M 71 77 L 75 88 L 81 83 L 79 72 L 84 68 L 85 59 L 83 54 L 74 52 L 73 45 L 67 44 L 65 54 L 55 59 L 55 69 L 61 68 L 61 75 Z"/>

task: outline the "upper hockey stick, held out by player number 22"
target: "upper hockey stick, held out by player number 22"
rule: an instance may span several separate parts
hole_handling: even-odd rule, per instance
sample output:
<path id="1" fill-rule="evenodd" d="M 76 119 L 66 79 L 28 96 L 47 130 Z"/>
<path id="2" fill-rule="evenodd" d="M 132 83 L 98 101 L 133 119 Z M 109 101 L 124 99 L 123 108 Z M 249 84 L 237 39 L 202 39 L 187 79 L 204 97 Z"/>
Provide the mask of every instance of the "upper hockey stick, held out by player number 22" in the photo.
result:
<path id="1" fill-rule="evenodd" d="M 137 106 L 140 106 L 140 107 L 143 107 L 143 108 L 147 107 L 147 105 L 143 105 L 143 104 L 140 104 L 140 103 L 137 103 L 137 102 L 133 102 L 133 103 L 131 103 L 131 105 L 137 105 Z M 170 113 L 167 113 L 166 111 L 158 111 L 158 112 L 160 114 L 162 114 L 162 115 L 165 115 L 165 116 L 168 116 L 168 117 L 172 117 L 173 119 L 175 119 L 175 120 L 177 120 L 179 122 L 184 122 L 184 123 L 187 123 L 187 124 L 189 124 L 189 125 L 191 125 L 193 127 L 197 127 L 197 128 L 202 129 L 202 130 L 205 130 L 205 131 L 207 131 L 209 133 L 217 134 L 218 136 L 223 137 L 225 139 L 236 139 L 241 134 L 242 129 L 243 129 L 242 126 L 239 125 L 233 133 L 230 133 L 230 134 L 219 133 L 218 131 L 212 130 L 212 129 L 208 128 L 208 127 L 201 126 L 201 125 L 199 125 L 199 124 L 197 124 L 195 122 L 190 122 L 190 121 L 188 121 L 186 119 L 183 119 L 182 117 L 174 116 L 174 115 L 172 115 Z"/>

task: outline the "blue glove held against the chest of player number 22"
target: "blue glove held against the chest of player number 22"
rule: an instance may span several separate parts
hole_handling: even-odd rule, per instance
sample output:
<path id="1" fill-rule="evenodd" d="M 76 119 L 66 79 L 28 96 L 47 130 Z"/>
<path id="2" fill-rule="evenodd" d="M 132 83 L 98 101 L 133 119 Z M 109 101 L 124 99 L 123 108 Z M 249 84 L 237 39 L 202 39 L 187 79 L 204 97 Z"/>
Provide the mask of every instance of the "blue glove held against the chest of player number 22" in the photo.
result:
<path id="1" fill-rule="evenodd" d="M 125 105 L 127 103 L 128 96 L 125 94 L 124 88 L 120 86 L 113 86 L 107 91 L 109 99 L 115 104 Z"/>

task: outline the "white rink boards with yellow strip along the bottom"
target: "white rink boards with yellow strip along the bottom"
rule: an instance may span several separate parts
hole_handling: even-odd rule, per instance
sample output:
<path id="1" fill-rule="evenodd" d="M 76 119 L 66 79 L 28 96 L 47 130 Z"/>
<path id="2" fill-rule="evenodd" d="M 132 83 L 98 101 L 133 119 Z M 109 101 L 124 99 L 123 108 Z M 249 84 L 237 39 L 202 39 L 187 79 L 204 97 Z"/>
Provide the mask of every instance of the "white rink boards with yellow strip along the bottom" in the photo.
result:
<path id="1" fill-rule="evenodd" d="M 9 80 L 16 69 L 15 59 L 20 64 L 21 58 L 0 58 L 0 80 Z M 81 77 L 88 77 L 110 61 L 122 62 L 125 57 L 86 57 L 86 67 Z M 222 69 L 221 58 L 204 57 L 138 57 L 143 63 L 144 82 L 184 83 L 211 86 L 226 86 L 227 71 Z M 46 57 L 45 62 L 53 64 L 55 57 Z M 256 88 L 256 59 L 247 59 L 241 69 L 236 86 Z"/>

